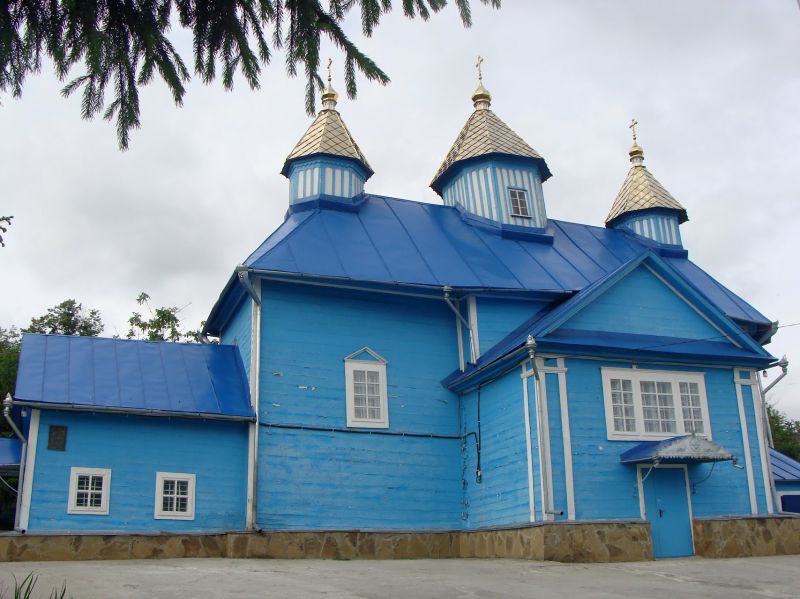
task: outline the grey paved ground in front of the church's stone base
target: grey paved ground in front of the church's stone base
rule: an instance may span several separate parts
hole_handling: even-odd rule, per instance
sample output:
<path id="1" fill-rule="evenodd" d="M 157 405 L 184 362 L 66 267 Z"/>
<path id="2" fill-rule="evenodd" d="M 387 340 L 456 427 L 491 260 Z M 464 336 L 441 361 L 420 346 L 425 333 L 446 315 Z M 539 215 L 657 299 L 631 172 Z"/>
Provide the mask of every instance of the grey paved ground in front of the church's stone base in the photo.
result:
<path id="1" fill-rule="evenodd" d="M 34 597 L 67 583 L 75 599 L 109 597 L 798 597 L 800 556 L 625 564 L 521 560 L 176 559 L 0 564 L 0 596 L 13 576 L 39 576 Z"/>

